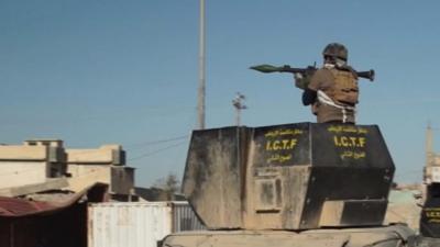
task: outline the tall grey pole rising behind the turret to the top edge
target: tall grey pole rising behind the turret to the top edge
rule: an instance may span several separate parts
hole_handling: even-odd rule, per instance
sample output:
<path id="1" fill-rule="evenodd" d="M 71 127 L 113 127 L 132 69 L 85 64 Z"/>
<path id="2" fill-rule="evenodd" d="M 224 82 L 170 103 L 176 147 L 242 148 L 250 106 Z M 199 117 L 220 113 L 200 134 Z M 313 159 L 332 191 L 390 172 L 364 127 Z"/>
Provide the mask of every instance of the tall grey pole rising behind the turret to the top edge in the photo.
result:
<path id="1" fill-rule="evenodd" d="M 200 0 L 198 128 L 205 130 L 205 0 Z"/>

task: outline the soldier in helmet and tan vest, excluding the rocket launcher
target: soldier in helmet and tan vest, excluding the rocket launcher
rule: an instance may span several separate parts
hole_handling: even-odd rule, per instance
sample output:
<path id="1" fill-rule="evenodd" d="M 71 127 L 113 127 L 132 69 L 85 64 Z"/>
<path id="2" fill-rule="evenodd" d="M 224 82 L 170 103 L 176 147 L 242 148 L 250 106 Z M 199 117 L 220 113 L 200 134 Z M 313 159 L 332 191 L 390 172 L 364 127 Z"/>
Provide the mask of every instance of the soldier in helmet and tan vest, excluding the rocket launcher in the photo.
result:
<path id="1" fill-rule="evenodd" d="M 323 66 L 310 78 L 302 103 L 310 105 L 318 123 L 355 123 L 359 99 L 358 76 L 348 64 L 349 52 L 342 44 L 331 43 L 322 52 Z M 299 75 L 295 82 L 300 83 Z"/>

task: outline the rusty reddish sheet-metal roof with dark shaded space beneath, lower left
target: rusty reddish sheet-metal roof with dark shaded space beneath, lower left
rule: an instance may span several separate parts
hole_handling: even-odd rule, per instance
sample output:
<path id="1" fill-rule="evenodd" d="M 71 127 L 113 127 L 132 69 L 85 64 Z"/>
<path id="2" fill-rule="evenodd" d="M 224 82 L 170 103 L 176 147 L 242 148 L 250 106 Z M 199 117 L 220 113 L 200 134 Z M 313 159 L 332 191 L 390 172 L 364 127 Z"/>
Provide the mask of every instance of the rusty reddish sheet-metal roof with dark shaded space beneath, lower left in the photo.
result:
<path id="1" fill-rule="evenodd" d="M 87 202 L 102 201 L 106 191 L 95 184 L 76 194 L 34 197 L 52 199 L 44 202 L 0 198 L 0 246 L 87 246 Z"/>

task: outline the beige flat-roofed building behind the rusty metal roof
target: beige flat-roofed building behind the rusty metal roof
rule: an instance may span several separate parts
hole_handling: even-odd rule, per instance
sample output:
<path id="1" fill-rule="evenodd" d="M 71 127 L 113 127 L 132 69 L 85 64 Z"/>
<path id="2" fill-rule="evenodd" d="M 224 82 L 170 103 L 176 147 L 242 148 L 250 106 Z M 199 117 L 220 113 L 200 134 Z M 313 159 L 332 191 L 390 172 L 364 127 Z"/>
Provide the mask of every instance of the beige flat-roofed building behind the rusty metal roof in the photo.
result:
<path id="1" fill-rule="evenodd" d="M 79 192 L 96 182 L 108 184 L 113 200 L 132 200 L 134 168 L 125 166 L 120 145 L 69 149 L 61 139 L 31 139 L 0 146 L 0 195 Z"/>

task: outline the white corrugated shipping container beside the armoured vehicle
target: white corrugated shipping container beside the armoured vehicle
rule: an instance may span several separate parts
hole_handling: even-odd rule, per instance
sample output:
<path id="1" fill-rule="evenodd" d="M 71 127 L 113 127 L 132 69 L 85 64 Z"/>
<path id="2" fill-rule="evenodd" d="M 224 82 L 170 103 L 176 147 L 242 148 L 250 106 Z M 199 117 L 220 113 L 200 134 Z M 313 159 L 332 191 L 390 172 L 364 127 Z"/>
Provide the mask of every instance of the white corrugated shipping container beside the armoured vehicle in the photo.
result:
<path id="1" fill-rule="evenodd" d="M 88 207 L 88 247 L 156 247 L 170 233 L 205 228 L 187 202 L 111 202 Z"/>

